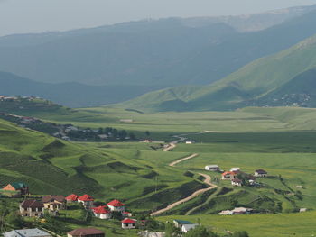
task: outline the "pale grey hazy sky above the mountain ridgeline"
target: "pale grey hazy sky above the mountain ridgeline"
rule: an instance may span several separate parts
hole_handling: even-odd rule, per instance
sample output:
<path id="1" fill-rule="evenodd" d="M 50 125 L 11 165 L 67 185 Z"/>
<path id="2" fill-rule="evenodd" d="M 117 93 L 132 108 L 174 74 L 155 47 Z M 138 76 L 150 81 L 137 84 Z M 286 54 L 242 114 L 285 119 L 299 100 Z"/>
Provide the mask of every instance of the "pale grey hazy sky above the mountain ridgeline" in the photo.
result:
<path id="1" fill-rule="evenodd" d="M 251 14 L 311 4 L 316 0 L 0 0 L 0 35 L 144 18 Z"/>

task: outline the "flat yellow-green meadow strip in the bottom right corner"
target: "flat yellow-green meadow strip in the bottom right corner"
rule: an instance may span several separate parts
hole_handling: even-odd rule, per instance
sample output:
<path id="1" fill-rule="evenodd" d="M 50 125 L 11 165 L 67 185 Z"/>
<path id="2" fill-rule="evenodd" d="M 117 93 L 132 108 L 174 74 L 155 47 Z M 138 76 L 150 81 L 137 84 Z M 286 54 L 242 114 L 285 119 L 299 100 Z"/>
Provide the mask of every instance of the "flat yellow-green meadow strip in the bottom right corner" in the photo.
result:
<path id="1" fill-rule="evenodd" d="M 251 237 L 311 237 L 316 235 L 316 212 L 302 214 L 250 214 L 234 216 L 191 215 L 163 216 L 160 221 L 185 219 L 201 223 L 215 232 L 235 232 L 246 230 Z"/>

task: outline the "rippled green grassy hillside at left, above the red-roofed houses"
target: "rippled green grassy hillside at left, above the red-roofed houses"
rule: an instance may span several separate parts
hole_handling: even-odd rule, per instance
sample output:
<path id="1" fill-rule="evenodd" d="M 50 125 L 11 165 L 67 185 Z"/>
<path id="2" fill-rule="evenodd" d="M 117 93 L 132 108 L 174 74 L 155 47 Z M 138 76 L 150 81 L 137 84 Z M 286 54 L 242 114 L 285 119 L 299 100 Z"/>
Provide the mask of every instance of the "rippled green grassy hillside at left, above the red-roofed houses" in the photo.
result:
<path id="1" fill-rule="evenodd" d="M 0 121 L 1 186 L 13 181 L 28 183 L 33 194 L 70 193 L 90 195 L 109 200 L 120 198 L 134 202 L 140 196 L 151 198 L 156 192 L 175 192 L 177 200 L 186 192 L 200 187 L 200 182 L 186 178 L 181 171 L 152 167 L 145 160 L 159 157 L 150 145 L 137 149 L 108 149 L 104 144 L 75 144 L 59 141 L 40 132 L 16 127 Z M 171 160 L 186 153 L 168 153 Z M 158 179 L 156 177 L 159 177 Z M 184 185 L 186 189 L 181 188 Z M 155 200 L 146 208 L 163 205 Z M 131 205 L 134 210 L 143 209 Z M 148 210 L 148 209 L 146 209 Z"/>

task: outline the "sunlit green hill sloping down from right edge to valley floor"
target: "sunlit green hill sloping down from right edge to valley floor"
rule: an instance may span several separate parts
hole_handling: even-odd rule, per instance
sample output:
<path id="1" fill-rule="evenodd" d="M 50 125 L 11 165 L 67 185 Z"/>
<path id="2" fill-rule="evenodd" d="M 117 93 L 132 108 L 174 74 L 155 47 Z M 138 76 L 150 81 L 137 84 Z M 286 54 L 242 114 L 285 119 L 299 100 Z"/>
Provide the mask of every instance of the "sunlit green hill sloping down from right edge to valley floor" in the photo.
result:
<path id="1" fill-rule="evenodd" d="M 288 50 L 256 59 L 208 87 L 172 87 L 140 96 L 123 107 L 144 111 L 201 111 L 249 105 L 313 106 L 313 68 L 316 68 L 316 36 Z M 286 100 L 286 104 L 281 99 L 275 102 L 274 98 L 290 93 L 301 95 L 300 99 Z M 306 96 L 308 103 L 299 103 Z"/>

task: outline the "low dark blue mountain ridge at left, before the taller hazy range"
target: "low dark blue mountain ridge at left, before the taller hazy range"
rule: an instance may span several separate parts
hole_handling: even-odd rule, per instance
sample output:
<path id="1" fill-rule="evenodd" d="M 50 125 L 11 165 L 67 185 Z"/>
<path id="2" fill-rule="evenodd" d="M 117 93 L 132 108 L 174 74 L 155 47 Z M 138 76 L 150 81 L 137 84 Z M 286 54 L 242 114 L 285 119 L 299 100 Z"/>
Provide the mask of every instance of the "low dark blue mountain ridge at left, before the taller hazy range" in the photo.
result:
<path id="1" fill-rule="evenodd" d="M 151 86 L 88 86 L 77 82 L 37 82 L 0 71 L 0 95 L 40 96 L 60 105 L 88 107 L 123 102 L 159 89 Z"/>

